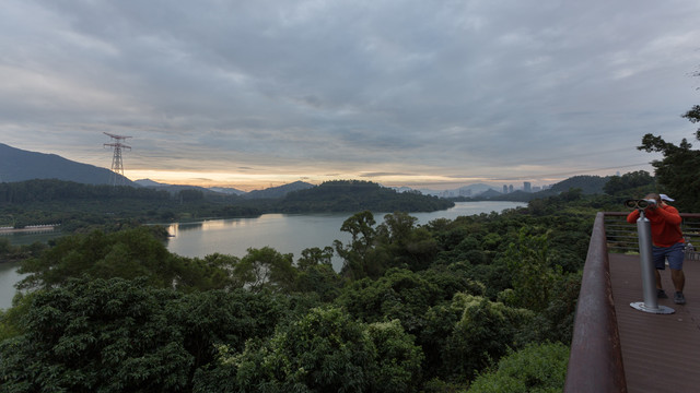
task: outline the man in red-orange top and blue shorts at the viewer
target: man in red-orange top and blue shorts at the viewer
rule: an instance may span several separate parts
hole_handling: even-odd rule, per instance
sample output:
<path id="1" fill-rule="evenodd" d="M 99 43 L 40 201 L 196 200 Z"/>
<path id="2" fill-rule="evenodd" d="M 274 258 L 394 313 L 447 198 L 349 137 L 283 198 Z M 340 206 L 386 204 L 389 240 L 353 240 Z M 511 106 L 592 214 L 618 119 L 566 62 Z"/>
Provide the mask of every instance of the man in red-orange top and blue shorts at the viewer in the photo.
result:
<path id="1" fill-rule="evenodd" d="M 682 260 L 685 239 L 680 230 L 680 215 L 676 207 L 665 203 L 673 201 L 667 195 L 662 199 L 656 193 L 651 193 L 644 199 L 650 202 L 649 207 L 644 211 L 644 216 L 649 218 L 652 227 L 652 255 L 654 260 L 654 271 L 656 274 L 656 294 L 660 298 L 667 298 L 661 285 L 660 270 L 666 269 L 666 259 L 668 267 L 670 267 L 670 279 L 674 283 L 676 293 L 674 294 L 674 302 L 676 305 L 685 305 L 686 297 L 682 295 L 682 288 L 686 285 L 686 276 L 682 273 Z M 639 210 L 634 210 L 627 216 L 630 224 L 637 223 L 639 218 Z"/>

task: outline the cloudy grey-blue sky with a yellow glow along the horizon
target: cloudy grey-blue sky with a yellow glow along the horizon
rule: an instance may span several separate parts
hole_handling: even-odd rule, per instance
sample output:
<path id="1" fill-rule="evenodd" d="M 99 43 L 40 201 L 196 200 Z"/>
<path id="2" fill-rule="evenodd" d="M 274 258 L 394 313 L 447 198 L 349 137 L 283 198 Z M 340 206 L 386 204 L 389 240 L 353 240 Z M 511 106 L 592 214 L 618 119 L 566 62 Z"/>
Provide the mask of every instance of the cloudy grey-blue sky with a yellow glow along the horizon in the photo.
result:
<path id="1" fill-rule="evenodd" d="M 4 0 L 0 142 L 132 180 L 451 189 L 693 141 L 691 0 Z"/>

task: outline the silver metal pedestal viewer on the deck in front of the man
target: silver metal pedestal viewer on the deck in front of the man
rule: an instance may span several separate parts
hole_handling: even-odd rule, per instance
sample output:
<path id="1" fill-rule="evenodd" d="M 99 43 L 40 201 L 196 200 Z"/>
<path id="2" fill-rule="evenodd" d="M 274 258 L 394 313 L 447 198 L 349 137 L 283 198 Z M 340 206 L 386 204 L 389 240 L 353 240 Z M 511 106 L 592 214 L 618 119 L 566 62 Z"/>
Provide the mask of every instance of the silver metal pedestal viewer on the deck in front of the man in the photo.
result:
<path id="1" fill-rule="evenodd" d="M 637 219 L 637 235 L 639 237 L 639 261 L 642 271 L 642 289 L 644 293 L 644 301 L 637 301 L 630 303 L 637 310 L 669 314 L 675 310 L 670 307 L 658 306 L 658 298 L 656 295 L 656 279 L 654 274 L 654 261 L 652 253 L 652 226 L 644 216 L 644 212 L 648 209 L 656 207 L 656 200 L 642 199 L 642 200 L 627 200 L 625 206 L 628 209 L 637 209 L 639 211 L 639 218 Z"/>

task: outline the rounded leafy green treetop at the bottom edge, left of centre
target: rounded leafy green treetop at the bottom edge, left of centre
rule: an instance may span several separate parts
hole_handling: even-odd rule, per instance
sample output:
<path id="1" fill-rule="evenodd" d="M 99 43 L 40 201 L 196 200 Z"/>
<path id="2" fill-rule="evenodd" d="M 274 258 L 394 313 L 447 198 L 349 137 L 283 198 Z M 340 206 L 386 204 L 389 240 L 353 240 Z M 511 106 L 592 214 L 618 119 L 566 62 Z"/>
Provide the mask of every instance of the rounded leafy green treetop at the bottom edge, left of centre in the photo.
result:
<path id="1" fill-rule="evenodd" d="M 218 367 L 198 374 L 195 391 L 415 392 L 421 361 L 397 322 L 366 325 L 339 308 L 313 309 L 240 355 L 221 349 Z"/>

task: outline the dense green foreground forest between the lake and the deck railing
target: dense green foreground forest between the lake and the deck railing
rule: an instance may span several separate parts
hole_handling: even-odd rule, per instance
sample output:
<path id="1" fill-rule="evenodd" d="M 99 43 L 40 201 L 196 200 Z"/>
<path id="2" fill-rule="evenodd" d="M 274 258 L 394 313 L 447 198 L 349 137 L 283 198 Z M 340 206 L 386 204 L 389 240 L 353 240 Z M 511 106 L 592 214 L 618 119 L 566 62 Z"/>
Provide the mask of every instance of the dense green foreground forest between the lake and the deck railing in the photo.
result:
<path id="1" fill-rule="evenodd" d="M 658 168 L 696 152 L 652 142 Z M 595 213 L 685 190 L 686 171 L 663 174 L 427 225 L 363 210 L 341 226 L 350 240 L 296 260 L 184 258 L 158 226 L 65 236 L 19 257 L 0 391 L 558 392 Z"/>

